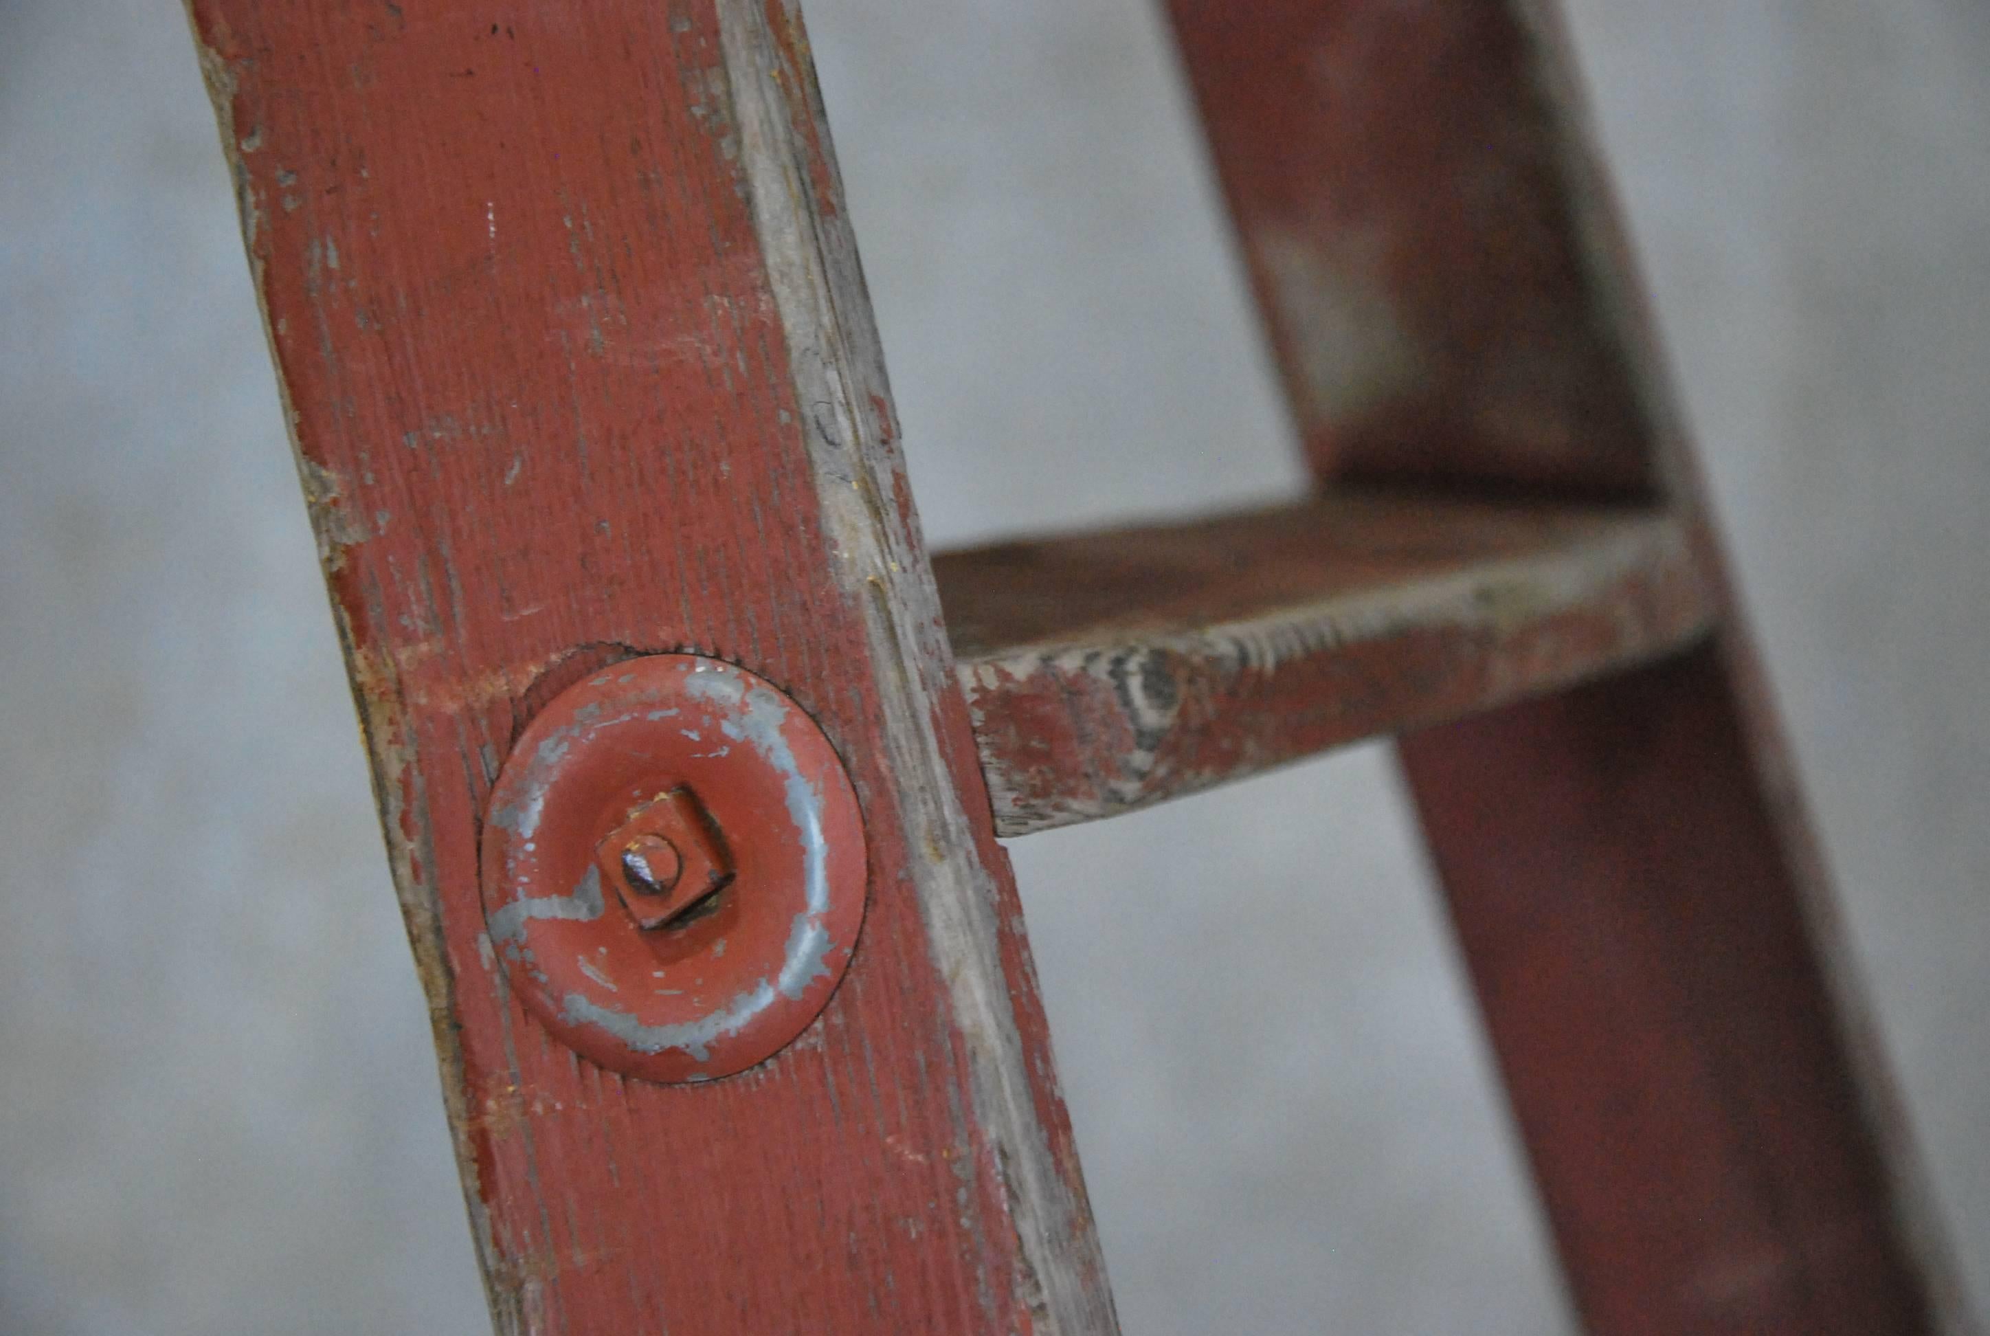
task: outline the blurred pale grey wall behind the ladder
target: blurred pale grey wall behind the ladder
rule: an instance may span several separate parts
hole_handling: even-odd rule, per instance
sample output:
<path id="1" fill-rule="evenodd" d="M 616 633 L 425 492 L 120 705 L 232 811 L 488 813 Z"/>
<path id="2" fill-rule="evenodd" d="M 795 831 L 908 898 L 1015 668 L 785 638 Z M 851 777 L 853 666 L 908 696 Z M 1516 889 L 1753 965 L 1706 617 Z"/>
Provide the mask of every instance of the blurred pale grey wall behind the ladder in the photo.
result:
<path id="1" fill-rule="evenodd" d="M 810 16 L 931 540 L 1297 484 L 1148 6 Z M 1986 1310 L 1990 10 L 1572 20 Z M 1385 753 L 1013 854 L 1130 1332 L 1570 1328 Z M 159 0 L 0 0 L 0 1332 L 486 1330 Z"/>

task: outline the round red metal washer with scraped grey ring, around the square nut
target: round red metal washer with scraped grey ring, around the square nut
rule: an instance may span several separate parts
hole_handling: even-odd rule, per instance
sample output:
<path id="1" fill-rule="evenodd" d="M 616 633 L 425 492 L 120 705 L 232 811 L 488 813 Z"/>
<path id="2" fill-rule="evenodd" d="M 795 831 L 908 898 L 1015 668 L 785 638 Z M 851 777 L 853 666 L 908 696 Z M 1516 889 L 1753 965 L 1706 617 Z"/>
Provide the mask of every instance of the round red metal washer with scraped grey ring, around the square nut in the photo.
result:
<path id="1" fill-rule="evenodd" d="M 732 882 L 641 928 L 597 846 L 689 788 Z M 698 655 L 617 663 L 525 729 L 492 790 L 484 922 L 523 1003 L 649 1081 L 742 1071 L 802 1033 L 864 922 L 864 818 L 836 749 L 768 681 Z"/>

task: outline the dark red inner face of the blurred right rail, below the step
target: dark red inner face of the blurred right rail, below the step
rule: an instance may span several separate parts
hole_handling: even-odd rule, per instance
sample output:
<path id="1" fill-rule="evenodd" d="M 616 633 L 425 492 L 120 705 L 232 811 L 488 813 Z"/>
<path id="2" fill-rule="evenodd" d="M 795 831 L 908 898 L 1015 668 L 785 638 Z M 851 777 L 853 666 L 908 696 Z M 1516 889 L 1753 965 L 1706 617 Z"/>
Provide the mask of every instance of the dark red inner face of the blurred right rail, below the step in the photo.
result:
<path id="1" fill-rule="evenodd" d="M 1934 1330 L 1735 711 L 1709 647 L 1403 759 L 1590 1328 Z"/>

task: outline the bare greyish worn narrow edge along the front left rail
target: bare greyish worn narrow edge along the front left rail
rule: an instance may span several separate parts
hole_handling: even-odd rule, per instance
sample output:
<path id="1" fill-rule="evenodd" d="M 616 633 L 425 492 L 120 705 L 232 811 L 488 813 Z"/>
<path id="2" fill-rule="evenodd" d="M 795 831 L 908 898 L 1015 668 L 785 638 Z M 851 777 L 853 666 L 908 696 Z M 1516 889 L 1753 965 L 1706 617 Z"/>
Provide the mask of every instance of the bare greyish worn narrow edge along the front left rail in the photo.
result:
<path id="1" fill-rule="evenodd" d="M 784 88 L 776 38 L 758 0 L 718 0 L 716 8 L 768 287 L 788 340 L 796 398 L 812 406 L 802 432 L 828 556 L 862 607 L 894 800 L 909 848 L 923 850 L 909 870 L 927 944 L 971 1065 L 975 1113 L 1007 1187 L 1023 1266 L 1017 1300 L 1041 1332 L 1116 1332 L 1091 1215 L 1059 1173 L 1049 1131 L 1037 1117 L 999 956 L 993 884 L 973 854 L 973 822 L 939 745 L 933 703 L 957 689 L 939 631 L 939 591 L 917 536 L 894 534 L 880 504 L 896 496 L 896 480 L 884 462 L 882 424 L 876 412 L 866 412 L 852 370 L 866 370 L 882 384 L 884 356 L 856 247 L 840 235 L 848 225 L 824 217 L 810 189 L 808 145 L 794 127 L 798 117 L 812 115 L 810 90 Z M 800 32 L 800 16 L 786 0 L 784 20 L 792 34 Z M 800 78 L 812 82 L 812 72 Z M 796 98 L 804 100 L 800 108 Z M 826 131 L 822 139 L 828 153 Z"/>

